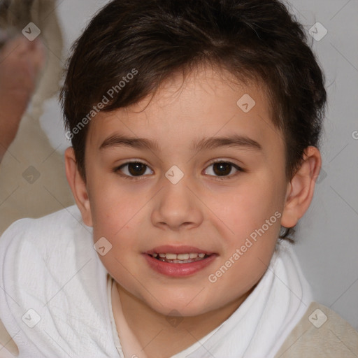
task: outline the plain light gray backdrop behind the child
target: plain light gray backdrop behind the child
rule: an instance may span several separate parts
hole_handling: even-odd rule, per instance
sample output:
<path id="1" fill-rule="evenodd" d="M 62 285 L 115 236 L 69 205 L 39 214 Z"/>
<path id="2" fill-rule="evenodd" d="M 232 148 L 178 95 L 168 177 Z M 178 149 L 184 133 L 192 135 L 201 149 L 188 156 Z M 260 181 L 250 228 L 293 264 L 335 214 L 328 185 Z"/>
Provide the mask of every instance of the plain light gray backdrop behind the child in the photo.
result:
<path id="1" fill-rule="evenodd" d="M 90 17 L 107 2 L 58 1 L 64 58 Z M 320 41 L 309 36 L 324 69 L 329 101 L 322 135 L 323 171 L 296 231 L 296 252 L 315 300 L 358 330 L 358 139 L 353 138 L 358 131 L 358 1 L 296 0 L 287 6 L 307 32 L 316 22 L 328 31 Z M 54 99 L 46 108 L 43 129 L 52 146 L 63 151 L 68 143 L 58 134 L 59 106 Z"/>

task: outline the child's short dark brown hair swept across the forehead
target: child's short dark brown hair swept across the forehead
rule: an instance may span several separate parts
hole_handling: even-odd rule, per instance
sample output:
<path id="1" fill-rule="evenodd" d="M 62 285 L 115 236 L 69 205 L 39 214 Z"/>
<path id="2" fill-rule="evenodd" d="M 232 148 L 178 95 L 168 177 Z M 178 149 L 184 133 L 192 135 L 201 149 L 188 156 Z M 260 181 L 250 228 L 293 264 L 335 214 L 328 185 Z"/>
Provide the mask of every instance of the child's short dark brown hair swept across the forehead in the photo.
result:
<path id="1" fill-rule="evenodd" d="M 323 74 L 303 27 L 279 1 L 114 0 L 94 16 L 72 50 L 60 97 L 84 179 L 88 125 L 78 124 L 89 122 L 108 90 L 116 88 L 101 110 L 126 107 L 153 94 L 176 71 L 189 73 L 198 64 L 264 84 L 273 126 L 286 146 L 287 178 L 300 166 L 303 151 L 318 146 Z M 133 70 L 136 76 L 120 86 Z"/>

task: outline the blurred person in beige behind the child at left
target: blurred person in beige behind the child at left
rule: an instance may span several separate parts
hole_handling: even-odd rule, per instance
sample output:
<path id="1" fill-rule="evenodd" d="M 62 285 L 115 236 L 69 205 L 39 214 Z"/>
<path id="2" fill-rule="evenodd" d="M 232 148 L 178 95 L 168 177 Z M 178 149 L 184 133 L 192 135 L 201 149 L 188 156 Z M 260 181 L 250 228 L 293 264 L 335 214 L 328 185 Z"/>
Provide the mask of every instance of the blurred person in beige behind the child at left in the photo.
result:
<path id="1" fill-rule="evenodd" d="M 0 234 L 73 203 L 57 150 L 66 140 L 57 108 L 67 52 L 60 4 L 0 0 Z"/>

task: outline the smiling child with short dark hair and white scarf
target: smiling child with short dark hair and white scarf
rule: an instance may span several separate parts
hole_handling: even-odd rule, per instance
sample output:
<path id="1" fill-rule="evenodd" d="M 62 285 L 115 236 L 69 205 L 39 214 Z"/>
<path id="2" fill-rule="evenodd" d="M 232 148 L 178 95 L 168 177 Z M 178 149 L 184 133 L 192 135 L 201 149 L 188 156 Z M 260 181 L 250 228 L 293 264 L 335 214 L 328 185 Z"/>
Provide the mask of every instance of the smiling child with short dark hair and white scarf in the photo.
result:
<path id="1" fill-rule="evenodd" d="M 62 90 L 77 206 L 0 240 L 18 357 L 357 356 L 288 239 L 321 166 L 305 41 L 275 0 L 115 0 L 94 17 Z"/>

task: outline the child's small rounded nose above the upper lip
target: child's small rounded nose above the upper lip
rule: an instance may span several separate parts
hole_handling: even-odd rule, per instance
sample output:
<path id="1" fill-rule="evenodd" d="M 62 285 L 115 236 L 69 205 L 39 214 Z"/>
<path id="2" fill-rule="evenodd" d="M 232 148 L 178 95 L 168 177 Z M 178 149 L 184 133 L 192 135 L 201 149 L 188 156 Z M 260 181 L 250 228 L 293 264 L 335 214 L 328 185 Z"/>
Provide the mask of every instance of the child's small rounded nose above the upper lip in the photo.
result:
<path id="1" fill-rule="evenodd" d="M 152 224 L 173 231 L 198 227 L 203 221 L 203 212 L 192 185 L 188 187 L 185 177 L 176 184 L 164 178 L 163 184 L 163 189 L 155 196 Z"/>

